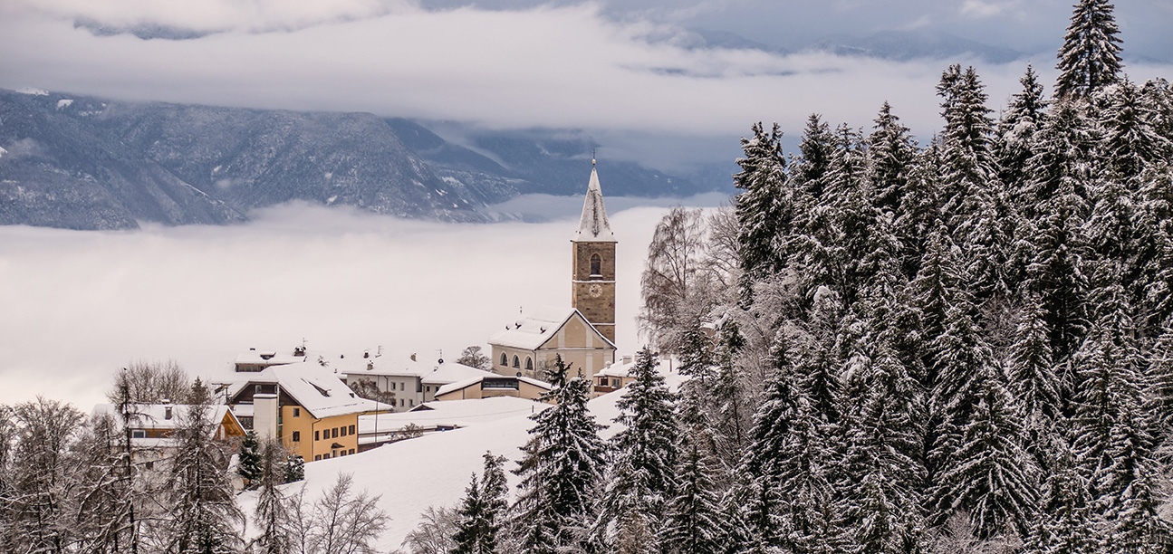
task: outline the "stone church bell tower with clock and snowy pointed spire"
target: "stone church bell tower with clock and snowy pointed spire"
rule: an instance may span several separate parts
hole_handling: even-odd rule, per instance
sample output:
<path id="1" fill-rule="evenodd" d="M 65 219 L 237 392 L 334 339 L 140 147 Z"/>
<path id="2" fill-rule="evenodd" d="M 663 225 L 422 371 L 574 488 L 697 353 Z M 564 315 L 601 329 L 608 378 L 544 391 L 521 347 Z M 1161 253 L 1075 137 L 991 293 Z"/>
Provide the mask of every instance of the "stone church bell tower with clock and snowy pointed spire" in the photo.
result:
<path id="1" fill-rule="evenodd" d="M 609 341 L 615 342 L 615 233 L 606 221 L 603 190 L 591 159 L 590 184 L 572 249 L 570 305 Z"/>

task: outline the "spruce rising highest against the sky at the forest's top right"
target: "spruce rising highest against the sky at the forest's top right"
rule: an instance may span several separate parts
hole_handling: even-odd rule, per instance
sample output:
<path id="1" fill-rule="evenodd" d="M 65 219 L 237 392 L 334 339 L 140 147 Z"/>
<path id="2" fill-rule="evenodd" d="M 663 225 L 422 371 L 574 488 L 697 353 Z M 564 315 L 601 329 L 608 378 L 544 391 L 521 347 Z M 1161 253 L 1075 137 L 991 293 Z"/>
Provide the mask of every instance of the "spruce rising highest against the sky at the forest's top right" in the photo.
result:
<path id="1" fill-rule="evenodd" d="M 1079 0 L 1074 6 L 1059 47 L 1056 97 L 1086 100 L 1120 78 L 1120 29 L 1112 9 L 1107 0 Z"/>

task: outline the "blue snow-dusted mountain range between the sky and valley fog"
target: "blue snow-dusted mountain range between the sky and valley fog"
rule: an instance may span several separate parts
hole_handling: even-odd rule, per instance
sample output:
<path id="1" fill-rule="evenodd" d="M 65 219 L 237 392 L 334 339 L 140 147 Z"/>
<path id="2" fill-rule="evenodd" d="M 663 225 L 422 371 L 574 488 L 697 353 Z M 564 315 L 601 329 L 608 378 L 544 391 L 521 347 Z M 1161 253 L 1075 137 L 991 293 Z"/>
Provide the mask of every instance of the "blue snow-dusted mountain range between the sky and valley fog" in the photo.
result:
<path id="1" fill-rule="evenodd" d="M 487 221 L 520 194 L 578 194 L 591 150 L 577 131 L 469 131 L 360 112 L 134 103 L 0 89 L 0 225 L 74 230 L 224 225 L 291 200 L 445 221 Z M 716 189 L 605 163 L 608 196 Z M 710 182 L 711 183 L 711 182 Z M 720 185 L 718 185 L 720 186 Z"/>

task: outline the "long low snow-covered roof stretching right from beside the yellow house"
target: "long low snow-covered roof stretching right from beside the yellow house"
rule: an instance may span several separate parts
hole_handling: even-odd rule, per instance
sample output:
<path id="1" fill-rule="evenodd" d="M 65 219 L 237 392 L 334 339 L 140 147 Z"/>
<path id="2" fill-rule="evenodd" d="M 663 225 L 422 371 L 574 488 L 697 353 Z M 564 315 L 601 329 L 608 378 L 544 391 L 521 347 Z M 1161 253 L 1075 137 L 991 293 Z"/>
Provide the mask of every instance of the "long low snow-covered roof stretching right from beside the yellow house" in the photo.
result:
<path id="1" fill-rule="evenodd" d="M 378 435 L 391 435 L 408 425 L 416 425 L 425 431 L 436 428 L 462 429 L 508 417 L 528 416 L 549 406 L 549 404 L 513 396 L 472 401 L 428 402 L 415 406 L 411 411 L 380 413 L 379 416 L 359 416 L 358 430 L 360 442 L 364 438 L 361 437 L 362 435 L 369 436 L 366 443 L 364 443 L 367 444 L 389 439 L 391 437 L 384 437 L 384 440 L 379 440 Z"/>

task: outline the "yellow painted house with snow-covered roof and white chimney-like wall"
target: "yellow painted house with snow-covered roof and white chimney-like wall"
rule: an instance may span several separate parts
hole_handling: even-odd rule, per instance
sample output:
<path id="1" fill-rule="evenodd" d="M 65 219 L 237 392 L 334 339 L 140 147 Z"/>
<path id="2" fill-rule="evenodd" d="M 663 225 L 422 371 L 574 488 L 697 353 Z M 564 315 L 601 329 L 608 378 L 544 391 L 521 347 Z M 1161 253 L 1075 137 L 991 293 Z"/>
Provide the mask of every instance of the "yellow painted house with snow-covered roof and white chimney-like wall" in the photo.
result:
<path id="1" fill-rule="evenodd" d="M 394 410 L 360 398 L 317 362 L 250 374 L 230 389 L 229 404 L 258 437 L 279 437 L 306 461 L 357 453 L 359 416 Z"/>

